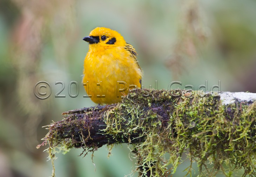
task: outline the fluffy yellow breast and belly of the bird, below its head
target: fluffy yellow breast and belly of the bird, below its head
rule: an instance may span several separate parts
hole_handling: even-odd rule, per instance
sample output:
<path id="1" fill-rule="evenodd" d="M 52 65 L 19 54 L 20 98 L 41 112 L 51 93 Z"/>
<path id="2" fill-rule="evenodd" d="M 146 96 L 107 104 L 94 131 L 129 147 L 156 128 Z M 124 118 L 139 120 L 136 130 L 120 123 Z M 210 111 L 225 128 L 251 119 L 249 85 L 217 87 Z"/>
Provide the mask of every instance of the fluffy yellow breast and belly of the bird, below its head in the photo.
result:
<path id="1" fill-rule="evenodd" d="M 90 47 L 83 74 L 87 95 L 97 104 L 119 102 L 129 89 L 141 87 L 142 71 L 124 47 Z"/>

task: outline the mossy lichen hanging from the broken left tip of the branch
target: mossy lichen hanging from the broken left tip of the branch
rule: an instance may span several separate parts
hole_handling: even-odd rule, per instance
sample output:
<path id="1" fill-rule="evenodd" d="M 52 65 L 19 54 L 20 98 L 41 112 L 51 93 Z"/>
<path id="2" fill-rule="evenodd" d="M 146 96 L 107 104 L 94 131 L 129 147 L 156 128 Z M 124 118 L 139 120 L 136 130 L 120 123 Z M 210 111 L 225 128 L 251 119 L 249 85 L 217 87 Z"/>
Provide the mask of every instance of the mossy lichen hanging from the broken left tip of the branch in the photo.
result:
<path id="1" fill-rule="evenodd" d="M 85 114 L 91 114 L 90 111 L 92 110 L 93 108 L 88 108 L 87 113 Z M 67 112 L 67 114 L 70 113 Z M 62 154 L 66 154 L 71 148 L 83 148 L 83 152 L 81 155 L 86 156 L 88 152 L 94 152 L 95 150 L 97 150 L 96 145 L 85 145 L 85 142 L 87 142 L 90 138 L 90 128 L 92 127 L 90 125 L 89 118 L 84 117 L 83 114 L 69 115 L 68 117 L 64 117 L 62 121 L 54 122 L 45 127 L 49 129 L 49 132 L 44 138 L 42 138 L 43 143 L 38 145 L 36 148 L 39 149 L 43 145 L 49 145 L 49 147 L 45 151 L 48 152 L 48 158 L 52 162 L 53 166 L 51 177 L 55 177 L 54 160 L 57 158 L 55 156 L 56 153 L 62 152 Z M 85 130 L 88 131 L 87 137 L 83 135 L 83 132 Z M 75 137 L 75 135 L 77 134 L 79 134 L 79 138 Z"/>

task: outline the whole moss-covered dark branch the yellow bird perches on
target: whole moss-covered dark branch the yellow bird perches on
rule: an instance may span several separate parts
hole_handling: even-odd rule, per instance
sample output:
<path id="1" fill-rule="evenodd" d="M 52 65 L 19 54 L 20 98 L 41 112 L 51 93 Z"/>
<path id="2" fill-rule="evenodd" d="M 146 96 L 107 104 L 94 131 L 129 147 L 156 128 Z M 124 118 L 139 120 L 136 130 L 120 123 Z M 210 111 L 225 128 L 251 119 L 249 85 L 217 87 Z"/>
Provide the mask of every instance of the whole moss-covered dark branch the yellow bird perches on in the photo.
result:
<path id="1" fill-rule="evenodd" d="M 131 90 L 120 103 L 63 113 L 62 121 L 49 125 L 41 145 L 49 145 L 53 162 L 58 149 L 87 153 L 105 144 L 130 143 L 141 176 L 174 173 L 183 152 L 197 162 L 201 175 L 232 176 L 242 169 L 244 176 L 256 176 L 256 94 L 243 94 L 247 100 L 230 97 L 234 93 Z"/>

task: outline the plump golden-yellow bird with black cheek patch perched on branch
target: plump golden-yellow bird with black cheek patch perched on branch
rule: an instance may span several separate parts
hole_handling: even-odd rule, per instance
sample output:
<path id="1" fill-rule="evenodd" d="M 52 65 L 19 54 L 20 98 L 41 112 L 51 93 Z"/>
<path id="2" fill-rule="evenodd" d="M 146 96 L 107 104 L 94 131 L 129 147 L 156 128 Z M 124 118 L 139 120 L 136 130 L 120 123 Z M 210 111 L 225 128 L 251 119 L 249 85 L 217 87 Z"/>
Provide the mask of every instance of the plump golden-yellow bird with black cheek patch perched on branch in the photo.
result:
<path id="1" fill-rule="evenodd" d="M 89 43 L 83 85 L 93 102 L 117 103 L 129 89 L 141 88 L 142 70 L 136 60 L 137 53 L 121 34 L 97 27 L 83 40 Z"/>

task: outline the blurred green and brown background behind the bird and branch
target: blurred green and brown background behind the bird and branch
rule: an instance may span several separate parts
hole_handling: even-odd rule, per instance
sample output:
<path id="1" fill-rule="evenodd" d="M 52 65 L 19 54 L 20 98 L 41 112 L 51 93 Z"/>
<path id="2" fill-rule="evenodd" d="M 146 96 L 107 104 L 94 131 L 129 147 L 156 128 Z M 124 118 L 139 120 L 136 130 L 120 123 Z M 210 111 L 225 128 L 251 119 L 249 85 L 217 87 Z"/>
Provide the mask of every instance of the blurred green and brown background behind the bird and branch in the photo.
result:
<path id="1" fill-rule="evenodd" d="M 221 91 L 256 93 L 255 8 L 255 0 L 0 0 L 0 177 L 50 176 L 46 147 L 36 149 L 47 134 L 42 126 L 60 121 L 64 111 L 95 105 L 83 98 L 81 83 L 88 51 L 82 38 L 95 27 L 117 30 L 135 47 L 146 88 L 157 80 L 158 89 L 181 81 L 171 88 L 196 90 L 207 81 L 209 90 L 220 80 Z M 52 87 L 47 99 L 34 95 L 39 81 Z M 61 89 L 56 81 L 65 83 L 66 97 L 54 96 Z M 79 84 L 75 98 L 68 94 L 76 93 L 71 81 Z M 81 152 L 57 154 L 56 177 L 133 175 L 127 144 L 114 147 L 109 159 L 100 148 L 95 165 L 92 154 Z M 183 162 L 173 176 L 184 176 L 188 166 Z"/>

